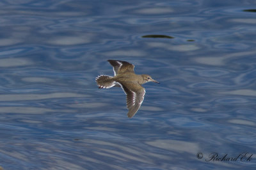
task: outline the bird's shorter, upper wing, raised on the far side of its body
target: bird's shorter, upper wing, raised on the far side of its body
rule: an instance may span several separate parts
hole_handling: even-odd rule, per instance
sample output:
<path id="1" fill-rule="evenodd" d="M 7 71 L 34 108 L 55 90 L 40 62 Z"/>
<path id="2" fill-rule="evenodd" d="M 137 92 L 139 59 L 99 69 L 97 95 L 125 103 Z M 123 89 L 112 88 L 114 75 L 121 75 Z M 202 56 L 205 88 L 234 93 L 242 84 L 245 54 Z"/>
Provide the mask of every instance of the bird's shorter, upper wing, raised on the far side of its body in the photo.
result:
<path id="1" fill-rule="evenodd" d="M 134 65 L 132 65 L 131 63 L 128 63 L 127 61 L 109 59 L 108 62 L 113 66 L 113 71 L 115 75 L 122 72 L 134 73 Z"/>

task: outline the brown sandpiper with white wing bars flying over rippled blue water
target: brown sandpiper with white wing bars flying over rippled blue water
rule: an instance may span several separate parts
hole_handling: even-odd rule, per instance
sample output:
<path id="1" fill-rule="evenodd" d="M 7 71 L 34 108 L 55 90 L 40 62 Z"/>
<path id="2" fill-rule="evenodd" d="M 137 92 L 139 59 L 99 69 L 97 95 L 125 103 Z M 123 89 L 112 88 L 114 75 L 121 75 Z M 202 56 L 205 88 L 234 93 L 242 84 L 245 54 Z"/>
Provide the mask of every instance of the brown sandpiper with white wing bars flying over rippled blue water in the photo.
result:
<path id="1" fill-rule="evenodd" d="M 140 109 L 145 96 L 145 88 L 141 85 L 146 82 L 157 82 L 147 74 L 137 75 L 134 73 L 134 65 L 127 61 L 111 60 L 108 62 L 113 66 L 114 77 L 99 75 L 96 82 L 99 88 L 120 87 L 126 93 L 126 104 L 129 112 L 127 116 L 132 118 Z M 157 82 L 159 83 L 159 82 Z"/>

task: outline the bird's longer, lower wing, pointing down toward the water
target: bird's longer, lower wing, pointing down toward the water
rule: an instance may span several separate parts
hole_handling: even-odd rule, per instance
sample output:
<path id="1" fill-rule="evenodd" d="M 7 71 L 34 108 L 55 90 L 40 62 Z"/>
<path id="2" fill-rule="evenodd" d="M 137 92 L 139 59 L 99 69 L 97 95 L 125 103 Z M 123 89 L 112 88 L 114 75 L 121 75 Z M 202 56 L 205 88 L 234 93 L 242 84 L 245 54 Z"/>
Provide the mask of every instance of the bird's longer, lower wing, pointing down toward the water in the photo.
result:
<path id="1" fill-rule="evenodd" d="M 121 84 L 124 92 L 126 93 L 126 104 L 129 112 L 127 116 L 132 118 L 134 114 L 140 109 L 140 106 L 144 100 L 145 88 L 140 86 L 138 83 L 129 82 Z M 127 88 L 129 87 L 129 88 Z"/>

